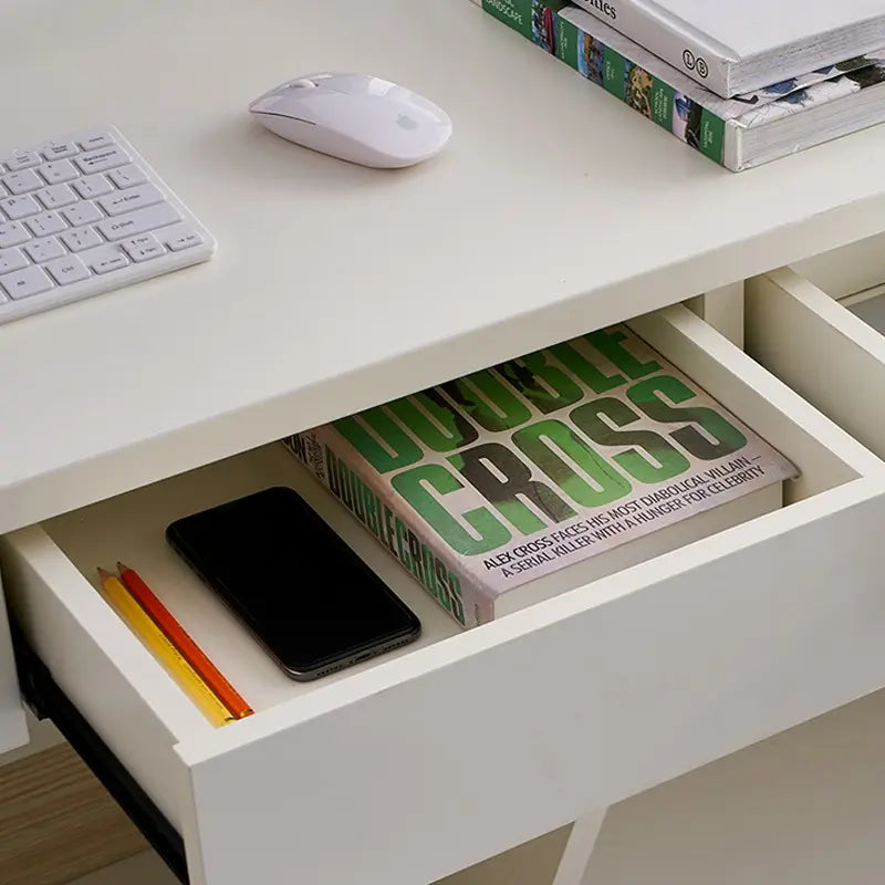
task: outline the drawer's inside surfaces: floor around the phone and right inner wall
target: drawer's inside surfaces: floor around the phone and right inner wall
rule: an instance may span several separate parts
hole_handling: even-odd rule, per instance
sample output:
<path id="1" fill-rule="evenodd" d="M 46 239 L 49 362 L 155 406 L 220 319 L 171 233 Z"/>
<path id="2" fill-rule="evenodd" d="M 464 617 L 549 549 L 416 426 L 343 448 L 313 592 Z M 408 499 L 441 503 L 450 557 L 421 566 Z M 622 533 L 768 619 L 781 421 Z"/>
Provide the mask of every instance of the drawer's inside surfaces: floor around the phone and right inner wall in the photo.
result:
<path id="1" fill-rule="evenodd" d="M 801 475 L 784 483 L 788 507 L 858 476 L 826 441 L 784 415 L 764 389 L 745 375 L 753 369 L 750 361 L 683 308 L 638 317 L 632 325 L 796 464 Z M 274 485 L 295 488 L 415 611 L 423 625 L 416 643 L 317 681 L 293 681 L 167 544 L 164 531 L 173 520 Z M 323 689 L 461 632 L 279 442 L 58 517 L 42 528 L 82 576 L 80 592 L 84 595 L 95 593 L 90 585 L 96 582 L 96 566 L 113 569 L 117 560 L 133 565 L 256 711 Z"/>

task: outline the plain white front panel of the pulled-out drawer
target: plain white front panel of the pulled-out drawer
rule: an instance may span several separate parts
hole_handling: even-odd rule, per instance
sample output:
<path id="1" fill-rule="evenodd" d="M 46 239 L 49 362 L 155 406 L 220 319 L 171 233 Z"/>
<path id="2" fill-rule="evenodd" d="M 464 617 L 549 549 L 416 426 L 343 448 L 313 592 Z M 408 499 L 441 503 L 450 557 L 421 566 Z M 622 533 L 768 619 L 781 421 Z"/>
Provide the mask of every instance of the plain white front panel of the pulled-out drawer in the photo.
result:
<path id="1" fill-rule="evenodd" d="M 883 519 L 877 499 L 711 563 L 683 551 L 686 573 L 610 579 L 512 615 L 539 622 L 518 641 L 458 659 L 459 637 L 449 665 L 186 754 L 201 881 L 429 882 L 882 687 Z"/>

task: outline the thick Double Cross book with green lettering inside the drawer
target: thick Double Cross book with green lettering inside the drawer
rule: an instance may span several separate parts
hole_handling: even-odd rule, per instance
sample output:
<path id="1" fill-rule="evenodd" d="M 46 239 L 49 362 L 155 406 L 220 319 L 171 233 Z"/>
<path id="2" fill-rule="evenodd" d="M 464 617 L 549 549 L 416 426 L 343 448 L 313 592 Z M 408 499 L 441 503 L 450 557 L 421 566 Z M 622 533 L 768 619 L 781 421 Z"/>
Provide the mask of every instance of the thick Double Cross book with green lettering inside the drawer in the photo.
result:
<path id="1" fill-rule="evenodd" d="M 796 472 L 621 325 L 283 441 L 468 627 L 773 510 Z"/>

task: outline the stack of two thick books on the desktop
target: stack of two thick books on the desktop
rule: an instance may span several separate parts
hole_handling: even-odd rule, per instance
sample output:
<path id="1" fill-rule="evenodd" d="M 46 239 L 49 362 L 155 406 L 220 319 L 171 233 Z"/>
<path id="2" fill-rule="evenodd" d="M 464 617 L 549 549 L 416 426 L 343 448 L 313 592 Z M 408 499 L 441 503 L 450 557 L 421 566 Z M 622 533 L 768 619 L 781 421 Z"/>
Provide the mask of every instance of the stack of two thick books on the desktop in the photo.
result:
<path id="1" fill-rule="evenodd" d="M 883 0 L 473 0 L 732 171 L 885 122 Z"/>

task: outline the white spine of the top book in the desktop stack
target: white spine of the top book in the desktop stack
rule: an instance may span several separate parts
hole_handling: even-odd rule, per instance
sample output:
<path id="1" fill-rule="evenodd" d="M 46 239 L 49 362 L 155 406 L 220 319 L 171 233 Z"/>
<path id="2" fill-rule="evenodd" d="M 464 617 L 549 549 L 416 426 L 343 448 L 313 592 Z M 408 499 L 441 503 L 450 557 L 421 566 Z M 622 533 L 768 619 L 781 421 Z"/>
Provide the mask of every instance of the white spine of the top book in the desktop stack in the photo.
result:
<path id="1" fill-rule="evenodd" d="M 572 0 L 581 9 L 621 31 L 635 43 L 684 71 L 691 80 L 722 97 L 731 97 L 733 59 L 707 45 L 687 30 L 649 14 L 632 0 Z"/>

